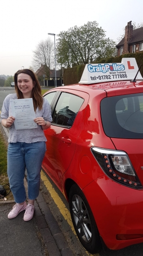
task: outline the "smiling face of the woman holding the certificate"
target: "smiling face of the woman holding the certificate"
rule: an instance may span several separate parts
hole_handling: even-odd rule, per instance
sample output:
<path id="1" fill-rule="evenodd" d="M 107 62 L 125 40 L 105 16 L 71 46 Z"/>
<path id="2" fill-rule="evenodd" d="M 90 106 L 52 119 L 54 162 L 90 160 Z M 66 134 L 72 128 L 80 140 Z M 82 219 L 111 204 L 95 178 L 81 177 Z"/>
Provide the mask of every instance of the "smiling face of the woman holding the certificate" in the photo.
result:
<path id="1" fill-rule="evenodd" d="M 34 87 L 34 83 L 31 76 L 28 74 L 18 74 L 18 88 L 22 92 L 24 98 L 31 98 L 31 92 Z"/>

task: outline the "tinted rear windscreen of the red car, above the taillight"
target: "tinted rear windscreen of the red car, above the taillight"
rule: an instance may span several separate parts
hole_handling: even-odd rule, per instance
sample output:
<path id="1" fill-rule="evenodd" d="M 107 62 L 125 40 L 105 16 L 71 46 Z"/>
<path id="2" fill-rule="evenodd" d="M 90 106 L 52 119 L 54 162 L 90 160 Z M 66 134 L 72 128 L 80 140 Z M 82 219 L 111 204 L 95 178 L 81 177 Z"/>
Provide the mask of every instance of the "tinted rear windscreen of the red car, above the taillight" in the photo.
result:
<path id="1" fill-rule="evenodd" d="M 143 93 L 104 98 L 100 109 L 107 136 L 143 139 Z"/>

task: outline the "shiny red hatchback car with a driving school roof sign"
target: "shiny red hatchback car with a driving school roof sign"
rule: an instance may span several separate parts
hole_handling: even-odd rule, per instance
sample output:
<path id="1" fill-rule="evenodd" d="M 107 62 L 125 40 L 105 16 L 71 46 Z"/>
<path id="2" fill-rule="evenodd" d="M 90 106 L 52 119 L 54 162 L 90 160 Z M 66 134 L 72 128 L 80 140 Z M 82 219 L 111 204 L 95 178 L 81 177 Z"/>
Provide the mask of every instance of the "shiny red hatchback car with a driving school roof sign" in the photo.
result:
<path id="1" fill-rule="evenodd" d="M 69 202 L 87 251 L 143 243 L 143 78 L 134 58 L 87 64 L 78 84 L 44 94 L 43 169 Z"/>

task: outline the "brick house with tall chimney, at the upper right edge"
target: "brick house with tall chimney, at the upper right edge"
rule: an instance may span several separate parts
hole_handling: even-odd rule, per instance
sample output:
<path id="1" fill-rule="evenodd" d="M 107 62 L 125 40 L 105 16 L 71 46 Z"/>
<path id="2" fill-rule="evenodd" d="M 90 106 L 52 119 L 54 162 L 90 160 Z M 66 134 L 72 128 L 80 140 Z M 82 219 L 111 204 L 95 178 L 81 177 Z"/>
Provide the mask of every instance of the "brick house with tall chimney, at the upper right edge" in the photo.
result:
<path id="1" fill-rule="evenodd" d="M 124 38 L 116 46 L 118 49 L 118 56 L 128 53 L 143 52 L 143 27 L 133 30 L 131 21 L 125 27 Z"/>

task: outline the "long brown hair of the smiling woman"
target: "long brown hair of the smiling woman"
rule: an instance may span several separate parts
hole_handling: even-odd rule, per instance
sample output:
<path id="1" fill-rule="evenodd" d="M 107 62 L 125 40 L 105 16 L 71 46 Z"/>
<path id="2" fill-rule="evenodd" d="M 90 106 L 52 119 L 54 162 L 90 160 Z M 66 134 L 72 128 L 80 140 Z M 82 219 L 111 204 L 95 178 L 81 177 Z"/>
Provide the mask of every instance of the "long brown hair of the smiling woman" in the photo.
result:
<path id="1" fill-rule="evenodd" d="M 32 93 L 31 93 L 31 98 L 33 99 L 34 110 L 36 111 L 37 107 L 41 110 L 42 106 L 43 106 L 43 96 L 41 94 L 41 92 L 42 92 L 41 86 L 37 80 L 36 74 L 33 71 L 31 71 L 30 69 L 18 70 L 14 74 L 15 90 L 16 90 L 18 99 L 23 99 L 23 93 L 18 88 L 18 75 L 21 73 L 28 74 L 31 76 L 31 79 L 32 79 L 33 85 L 34 85 L 34 87 L 32 89 Z"/>

